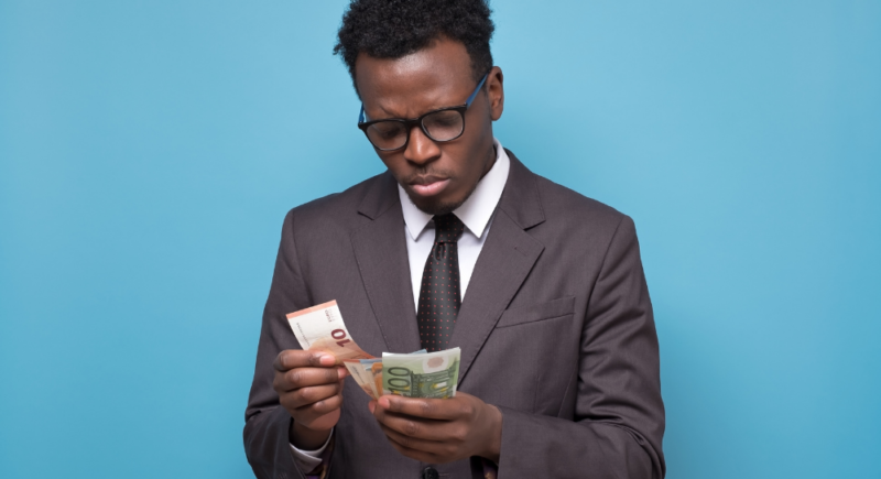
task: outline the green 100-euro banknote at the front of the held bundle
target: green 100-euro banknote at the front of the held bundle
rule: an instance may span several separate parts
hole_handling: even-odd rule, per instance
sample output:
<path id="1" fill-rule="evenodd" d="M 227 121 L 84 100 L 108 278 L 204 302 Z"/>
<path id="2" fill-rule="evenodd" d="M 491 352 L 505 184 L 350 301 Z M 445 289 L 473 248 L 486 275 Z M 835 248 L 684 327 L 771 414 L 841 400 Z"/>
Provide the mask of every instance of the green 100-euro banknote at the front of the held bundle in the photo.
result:
<path id="1" fill-rule="evenodd" d="M 407 398 L 453 398 L 459 381 L 460 357 L 459 348 L 424 355 L 383 352 L 382 393 Z"/>

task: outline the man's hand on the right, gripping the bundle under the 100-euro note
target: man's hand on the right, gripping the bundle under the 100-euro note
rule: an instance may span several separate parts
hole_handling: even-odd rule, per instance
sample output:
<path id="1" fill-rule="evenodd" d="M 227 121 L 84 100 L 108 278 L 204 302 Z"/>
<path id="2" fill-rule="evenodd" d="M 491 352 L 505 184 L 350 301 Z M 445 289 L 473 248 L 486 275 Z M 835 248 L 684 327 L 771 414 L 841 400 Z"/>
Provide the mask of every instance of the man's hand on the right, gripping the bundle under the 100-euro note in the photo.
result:
<path id="1" fill-rule="evenodd" d="M 368 404 L 399 453 L 429 464 L 481 456 L 499 462 L 502 413 L 470 394 L 450 399 L 383 395 Z"/>

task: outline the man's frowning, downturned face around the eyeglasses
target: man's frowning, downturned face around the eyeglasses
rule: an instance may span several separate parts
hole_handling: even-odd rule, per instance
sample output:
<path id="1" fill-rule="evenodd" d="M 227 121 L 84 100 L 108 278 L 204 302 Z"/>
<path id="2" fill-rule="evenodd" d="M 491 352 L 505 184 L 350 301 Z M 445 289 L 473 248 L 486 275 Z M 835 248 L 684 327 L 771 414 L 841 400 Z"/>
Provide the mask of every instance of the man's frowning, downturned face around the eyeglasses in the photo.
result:
<path id="1" fill-rule="evenodd" d="M 362 53 L 356 81 L 369 120 L 417 118 L 464 105 L 477 86 L 465 45 L 447 39 L 401 58 Z M 377 154 L 416 207 L 431 215 L 453 211 L 496 161 L 492 121 L 501 117 L 503 104 L 502 73 L 493 67 L 465 113 L 461 137 L 435 142 L 415 127 L 405 148 Z"/>

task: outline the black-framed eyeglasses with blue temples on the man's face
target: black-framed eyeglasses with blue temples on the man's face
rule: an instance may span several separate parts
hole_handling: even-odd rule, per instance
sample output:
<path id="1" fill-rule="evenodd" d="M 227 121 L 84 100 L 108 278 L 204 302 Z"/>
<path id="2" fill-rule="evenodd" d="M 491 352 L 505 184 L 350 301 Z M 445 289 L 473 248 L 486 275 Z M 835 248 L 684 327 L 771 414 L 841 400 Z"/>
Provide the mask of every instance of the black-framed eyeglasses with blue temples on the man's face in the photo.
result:
<path id="1" fill-rule="evenodd" d="M 380 151 L 400 150 L 410 142 L 410 131 L 418 126 L 426 137 L 434 141 L 452 141 L 465 131 L 465 112 L 477 97 L 489 73 L 483 75 L 477 84 L 471 96 L 465 105 L 458 107 L 439 108 L 428 111 L 420 118 L 403 119 L 388 118 L 384 120 L 365 121 L 365 105 L 361 104 L 361 113 L 358 116 L 358 128 L 365 132 L 370 143 Z"/>

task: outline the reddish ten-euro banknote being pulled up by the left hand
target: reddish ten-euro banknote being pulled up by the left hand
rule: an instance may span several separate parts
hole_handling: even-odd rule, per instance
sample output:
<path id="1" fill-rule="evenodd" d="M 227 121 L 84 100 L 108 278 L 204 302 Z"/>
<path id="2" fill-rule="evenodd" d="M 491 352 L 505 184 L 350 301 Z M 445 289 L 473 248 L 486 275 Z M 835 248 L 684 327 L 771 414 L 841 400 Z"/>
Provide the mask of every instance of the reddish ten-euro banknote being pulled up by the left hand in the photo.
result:
<path id="1" fill-rule="evenodd" d="M 337 364 L 342 364 L 348 359 L 373 358 L 351 339 L 336 301 L 289 313 L 286 316 L 303 349 L 330 352 L 336 357 Z"/>

